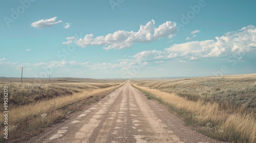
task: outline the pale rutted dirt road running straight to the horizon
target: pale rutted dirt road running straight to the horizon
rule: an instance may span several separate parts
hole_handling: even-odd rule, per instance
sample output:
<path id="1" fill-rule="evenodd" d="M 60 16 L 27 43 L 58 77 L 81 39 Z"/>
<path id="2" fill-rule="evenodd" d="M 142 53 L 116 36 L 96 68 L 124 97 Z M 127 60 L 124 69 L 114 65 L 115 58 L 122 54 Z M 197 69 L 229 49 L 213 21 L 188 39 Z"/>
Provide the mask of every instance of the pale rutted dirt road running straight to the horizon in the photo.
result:
<path id="1" fill-rule="evenodd" d="M 220 142 L 183 126 L 129 82 L 29 142 Z"/>

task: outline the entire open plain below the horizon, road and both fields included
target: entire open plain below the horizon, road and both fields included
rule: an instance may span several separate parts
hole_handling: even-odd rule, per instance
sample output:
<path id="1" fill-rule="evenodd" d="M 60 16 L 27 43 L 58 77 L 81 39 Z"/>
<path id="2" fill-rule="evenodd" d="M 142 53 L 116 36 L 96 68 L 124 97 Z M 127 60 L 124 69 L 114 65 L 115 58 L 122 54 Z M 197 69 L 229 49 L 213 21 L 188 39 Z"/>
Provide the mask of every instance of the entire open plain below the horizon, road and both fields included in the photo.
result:
<path id="1" fill-rule="evenodd" d="M 91 81 L 2 82 L 11 101 L 8 141 L 255 141 L 255 74 Z"/>

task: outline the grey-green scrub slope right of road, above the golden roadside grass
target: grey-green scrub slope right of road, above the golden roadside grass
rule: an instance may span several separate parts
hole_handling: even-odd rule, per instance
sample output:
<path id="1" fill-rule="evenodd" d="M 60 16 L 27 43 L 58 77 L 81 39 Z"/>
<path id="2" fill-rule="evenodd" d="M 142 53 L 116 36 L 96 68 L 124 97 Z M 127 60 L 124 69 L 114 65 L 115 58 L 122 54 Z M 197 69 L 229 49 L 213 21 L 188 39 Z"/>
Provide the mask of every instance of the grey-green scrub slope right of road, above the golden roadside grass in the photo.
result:
<path id="1" fill-rule="evenodd" d="M 256 113 L 256 74 L 133 83 L 169 93 L 175 92 L 190 101 L 218 103 L 221 108 L 229 109 L 229 112 L 245 107 L 244 112 Z"/>

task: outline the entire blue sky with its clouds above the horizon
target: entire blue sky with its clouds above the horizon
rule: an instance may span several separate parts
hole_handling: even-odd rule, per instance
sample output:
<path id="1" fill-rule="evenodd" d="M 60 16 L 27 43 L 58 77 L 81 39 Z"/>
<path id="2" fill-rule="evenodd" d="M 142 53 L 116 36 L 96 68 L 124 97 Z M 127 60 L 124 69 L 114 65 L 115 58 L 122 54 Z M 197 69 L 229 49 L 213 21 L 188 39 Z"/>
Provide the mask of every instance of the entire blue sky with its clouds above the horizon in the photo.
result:
<path id="1" fill-rule="evenodd" d="M 256 71 L 256 1 L 1 1 L 0 77 Z"/>

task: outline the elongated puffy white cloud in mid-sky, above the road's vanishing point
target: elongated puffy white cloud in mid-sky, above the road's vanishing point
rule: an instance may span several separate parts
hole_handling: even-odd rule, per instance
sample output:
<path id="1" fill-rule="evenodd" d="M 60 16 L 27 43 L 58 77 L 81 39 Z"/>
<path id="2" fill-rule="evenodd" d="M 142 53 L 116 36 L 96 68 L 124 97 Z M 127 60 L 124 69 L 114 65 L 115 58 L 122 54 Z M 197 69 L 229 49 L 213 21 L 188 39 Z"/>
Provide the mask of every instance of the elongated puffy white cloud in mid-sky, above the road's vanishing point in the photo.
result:
<path id="1" fill-rule="evenodd" d="M 162 37 L 172 38 L 177 33 L 176 27 L 177 25 L 175 22 L 166 21 L 156 28 L 155 20 L 151 20 L 147 22 L 145 26 L 141 25 L 137 32 L 119 30 L 105 36 L 94 37 L 93 34 L 88 34 L 84 36 L 84 38 L 74 38 L 72 40 L 81 47 L 103 45 L 105 50 L 124 49 L 131 47 L 135 43 L 148 43 Z M 71 41 L 63 42 L 63 44 L 69 43 L 71 43 Z"/>

